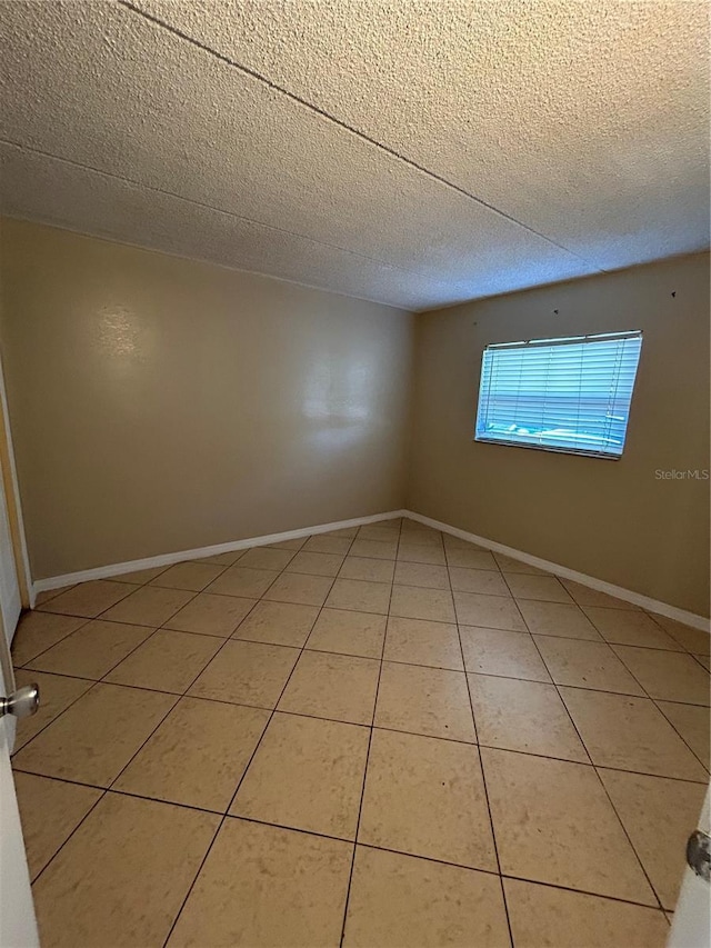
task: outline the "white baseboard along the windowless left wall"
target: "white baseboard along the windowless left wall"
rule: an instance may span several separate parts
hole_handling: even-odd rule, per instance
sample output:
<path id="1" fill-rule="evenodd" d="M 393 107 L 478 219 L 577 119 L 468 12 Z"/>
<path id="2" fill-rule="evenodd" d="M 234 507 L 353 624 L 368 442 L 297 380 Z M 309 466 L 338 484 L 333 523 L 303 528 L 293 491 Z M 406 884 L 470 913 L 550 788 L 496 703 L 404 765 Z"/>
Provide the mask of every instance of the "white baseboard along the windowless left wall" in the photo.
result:
<path id="1" fill-rule="evenodd" d="M 128 562 L 114 562 L 108 566 L 98 566 L 93 569 L 81 569 L 78 572 L 67 572 L 64 576 L 50 576 L 47 579 L 38 579 L 32 583 L 30 590 L 30 606 L 34 606 L 38 592 L 48 589 L 60 589 L 62 586 L 73 586 L 76 582 L 88 582 L 90 579 L 110 579 L 112 576 L 121 576 L 124 572 L 134 572 L 138 569 L 150 569 L 156 566 L 172 566 L 183 560 L 202 559 L 219 553 L 230 553 L 233 550 L 246 550 L 249 547 L 266 547 L 269 543 L 279 543 L 282 540 L 298 540 L 301 537 L 310 537 L 313 533 L 329 533 L 331 530 L 341 530 L 343 527 L 362 527 L 365 523 L 377 523 L 380 520 L 394 520 L 404 517 L 404 510 L 390 510 L 387 513 L 372 513 L 369 517 L 354 517 L 352 520 L 338 520 L 334 523 L 319 523 L 316 527 L 302 527 L 298 530 L 287 530 L 284 533 L 269 533 L 264 537 L 249 537 L 246 540 L 233 540 L 229 543 L 216 543 L 212 547 L 200 547 L 196 550 L 179 550 L 176 553 L 161 553 L 157 557 L 144 557 L 140 560 Z"/>

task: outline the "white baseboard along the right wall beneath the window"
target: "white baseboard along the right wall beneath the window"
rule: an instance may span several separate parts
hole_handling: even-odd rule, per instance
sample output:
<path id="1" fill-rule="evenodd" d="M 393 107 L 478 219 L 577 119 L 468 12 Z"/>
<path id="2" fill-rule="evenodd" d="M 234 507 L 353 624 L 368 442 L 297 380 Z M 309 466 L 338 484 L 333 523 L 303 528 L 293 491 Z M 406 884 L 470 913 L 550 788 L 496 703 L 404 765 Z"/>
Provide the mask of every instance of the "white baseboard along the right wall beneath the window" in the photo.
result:
<path id="1" fill-rule="evenodd" d="M 453 537 L 459 537 L 462 540 L 469 540 L 470 543 L 478 543 L 480 547 L 485 547 L 495 553 L 504 553 L 511 559 L 520 560 L 529 566 L 537 566 L 539 569 L 544 569 L 555 576 L 562 576 L 563 579 L 572 579 L 574 582 L 580 582 L 582 586 L 588 586 L 590 589 L 597 589 L 600 592 L 607 592 L 609 596 L 617 596 L 618 599 L 623 599 L 625 602 L 632 602 L 634 606 L 640 606 L 642 609 L 649 609 L 650 612 L 658 612 L 660 616 L 665 616 L 668 619 L 675 619 L 678 622 L 683 622 L 687 626 L 693 626 L 694 629 L 709 632 L 709 619 L 703 616 L 697 616 L 694 612 L 688 612 L 685 609 L 679 609 L 677 606 L 670 606 L 668 602 L 660 602 L 658 599 L 651 599 L 649 596 L 642 596 L 641 592 L 633 592 L 631 589 L 623 589 L 621 586 L 614 586 L 612 582 L 605 582 L 603 579 L 595 579 L 593 576 L 585 576 L 584 572 L 578 572 L 574 569 L 569 569 L 567 566 L 543 560 L 540 557 L 531 556 L 530 553 L 514 550 L 512 547 L 505 547 L 503 543 L 497 543 L 494 540 L 488 540 L 485 537 L 478 537 L 475 533 L 469 533 L 467 530 L 460 530 L 459 527 L 450 527 L 449 523 L 442 523 L 440 520 L 432 520 L 431 517 L 423 517 L 422 513 L 414 513 L 412 510 L 404 510 L 400 513 L 402 517 L 409 517 L 411 520 L 417 520 L 428 527 L 433 527 L 435 530 L 441 530 L 444 533 L 451 533 Z"/>

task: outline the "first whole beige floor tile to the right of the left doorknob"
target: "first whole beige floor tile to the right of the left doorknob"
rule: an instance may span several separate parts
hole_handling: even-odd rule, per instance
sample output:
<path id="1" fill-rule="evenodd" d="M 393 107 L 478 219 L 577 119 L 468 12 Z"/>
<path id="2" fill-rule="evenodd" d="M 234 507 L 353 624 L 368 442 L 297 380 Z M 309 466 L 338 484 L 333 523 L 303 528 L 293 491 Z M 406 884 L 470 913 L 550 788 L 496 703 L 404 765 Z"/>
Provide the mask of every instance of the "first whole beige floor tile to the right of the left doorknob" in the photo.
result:
<path id="1" fill-rule="evenodd" d="M 108 787 L 176 702 L 98 683 L 14 756 L 19 770 Z"/>

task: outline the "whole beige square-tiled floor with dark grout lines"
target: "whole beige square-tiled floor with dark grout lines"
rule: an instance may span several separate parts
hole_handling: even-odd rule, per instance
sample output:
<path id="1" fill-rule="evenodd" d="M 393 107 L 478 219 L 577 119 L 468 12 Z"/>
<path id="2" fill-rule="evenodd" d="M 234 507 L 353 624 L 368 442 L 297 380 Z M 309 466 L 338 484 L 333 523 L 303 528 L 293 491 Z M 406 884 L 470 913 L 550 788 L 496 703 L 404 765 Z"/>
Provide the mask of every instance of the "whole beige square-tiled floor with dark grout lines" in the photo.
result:
<path id="1" fill-rule="evenodd" d="M 662 946 L 709 637 L 409 520 L 44 593 L 44 948 Z"/>

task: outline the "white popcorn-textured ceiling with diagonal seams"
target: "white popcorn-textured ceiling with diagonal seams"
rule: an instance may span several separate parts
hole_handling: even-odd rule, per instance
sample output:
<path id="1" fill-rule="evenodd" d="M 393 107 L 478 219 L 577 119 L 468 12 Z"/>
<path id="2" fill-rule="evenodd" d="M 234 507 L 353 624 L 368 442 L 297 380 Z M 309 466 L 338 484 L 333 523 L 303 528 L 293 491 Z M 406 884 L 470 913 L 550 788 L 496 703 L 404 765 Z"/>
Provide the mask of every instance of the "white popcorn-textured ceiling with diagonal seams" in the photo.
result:
<path id="1" fill-rule="evenodd" d="M 709 245 L 705 2 L 0 3 L 3 212 L 408 309 Z"/>

